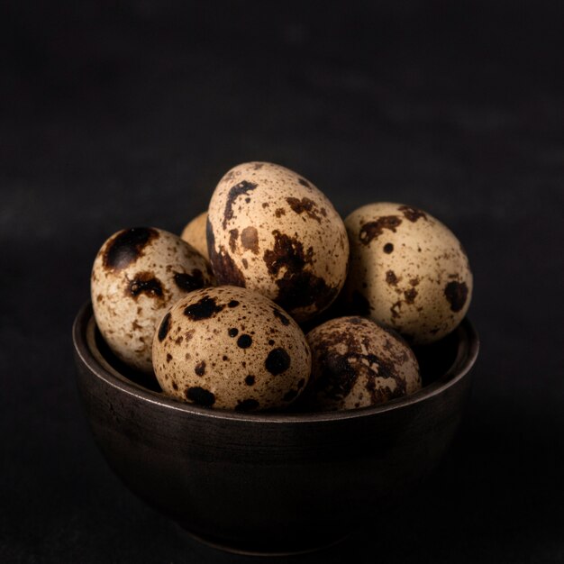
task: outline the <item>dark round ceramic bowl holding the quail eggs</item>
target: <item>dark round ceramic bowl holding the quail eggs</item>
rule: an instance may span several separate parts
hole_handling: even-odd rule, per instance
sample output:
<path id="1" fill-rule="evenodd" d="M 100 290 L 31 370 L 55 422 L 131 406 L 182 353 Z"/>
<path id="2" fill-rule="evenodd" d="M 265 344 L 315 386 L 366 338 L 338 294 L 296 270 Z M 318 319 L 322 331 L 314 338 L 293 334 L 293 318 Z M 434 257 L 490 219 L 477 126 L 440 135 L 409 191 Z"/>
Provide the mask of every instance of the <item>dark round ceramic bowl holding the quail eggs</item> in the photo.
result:
<path id="1" fill-rule="evenodd" d="M 416 351 L 423 389 L 413 396 L 345 412 L 240 414 L 179 403 L 128 373 L 90 305 L 73 338 L 86 415 L 114 472 L 196 537 L 259 553 L 331 544 L 417 486 L 449 447 L 478 355 L 465 320 Z"/>

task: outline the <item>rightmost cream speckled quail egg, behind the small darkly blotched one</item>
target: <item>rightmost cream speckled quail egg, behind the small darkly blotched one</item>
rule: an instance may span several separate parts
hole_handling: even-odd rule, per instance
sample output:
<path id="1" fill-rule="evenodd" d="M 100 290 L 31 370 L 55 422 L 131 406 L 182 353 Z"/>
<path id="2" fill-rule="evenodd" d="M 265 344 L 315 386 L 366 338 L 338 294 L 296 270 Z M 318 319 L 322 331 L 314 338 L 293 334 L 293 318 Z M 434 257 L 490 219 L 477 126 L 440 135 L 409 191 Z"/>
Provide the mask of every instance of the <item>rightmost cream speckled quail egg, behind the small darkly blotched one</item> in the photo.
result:
<path id="1" fill-rule="evenodd" d="M 414 344 L 438 341 L 462 321 L 472 273 L 459 240 L 409 205 L 360 207 L 345 220 L 350 273 L 343 292 L 356 313 Z"/>

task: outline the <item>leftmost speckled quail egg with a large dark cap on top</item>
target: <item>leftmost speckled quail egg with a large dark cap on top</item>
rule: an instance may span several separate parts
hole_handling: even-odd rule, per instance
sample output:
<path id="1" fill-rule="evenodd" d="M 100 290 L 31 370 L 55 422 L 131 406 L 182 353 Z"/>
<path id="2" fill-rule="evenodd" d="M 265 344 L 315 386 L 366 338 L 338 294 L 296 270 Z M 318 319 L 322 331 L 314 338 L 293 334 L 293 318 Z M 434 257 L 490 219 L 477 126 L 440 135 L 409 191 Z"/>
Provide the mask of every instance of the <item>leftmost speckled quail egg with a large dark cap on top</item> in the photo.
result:
<path id="1" fill-rule="evenodd" d="M 207 261 L 186 241 L 152 227 L 114 233 L 98 251 L 91 295 L 96 323 L 115 355 L 152 372 L 151 345 L 178 299 L 214 283 Z"/>

